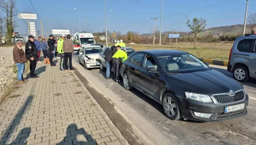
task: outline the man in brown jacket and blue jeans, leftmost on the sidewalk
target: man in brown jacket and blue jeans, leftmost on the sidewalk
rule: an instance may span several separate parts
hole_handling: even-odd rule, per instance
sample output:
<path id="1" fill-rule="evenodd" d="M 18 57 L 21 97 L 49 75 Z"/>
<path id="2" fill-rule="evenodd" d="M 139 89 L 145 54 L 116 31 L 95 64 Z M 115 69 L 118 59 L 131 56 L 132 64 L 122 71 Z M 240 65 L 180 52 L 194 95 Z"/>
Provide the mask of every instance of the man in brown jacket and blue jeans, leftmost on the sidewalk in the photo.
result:
<path id="1" fill-rule="evenodd" d="M 15 62 L 15 65 L 18 68 L 18 75 L 17 75 L 18 81 L 20 84 L 25 84 L 25 81 L 27 80 L 23 78 L 22 74 L 25 70 L 25 63 L 27 62 L 27 57 L 25 55 L 25 52 L 21 48 L 22 44 L 23 44 L 22 40 L 16 41 L 12 51 L 12 55 L 13 55 L 13 61 Z"/>

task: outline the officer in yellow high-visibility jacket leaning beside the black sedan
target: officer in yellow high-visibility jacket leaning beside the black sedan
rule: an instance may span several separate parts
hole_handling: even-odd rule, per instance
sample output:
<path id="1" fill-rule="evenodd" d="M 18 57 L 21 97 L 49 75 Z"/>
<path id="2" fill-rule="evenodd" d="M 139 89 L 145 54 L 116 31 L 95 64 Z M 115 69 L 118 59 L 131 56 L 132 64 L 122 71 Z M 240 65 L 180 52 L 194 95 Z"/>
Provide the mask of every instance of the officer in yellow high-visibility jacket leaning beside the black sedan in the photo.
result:
<path id="1" fill-rule="evenodd" d="M 117 46 L 117 52 L 112 56 L 112 64 L 114 68 L 114 77 L 115 77 L 115 82 L 117 83 L 119 81 L 119 67 L 120 67 L 120 62 L 121 59 L 127 59 L 127 53 L 125 50 L 121 49 L 121 46 Z"/>

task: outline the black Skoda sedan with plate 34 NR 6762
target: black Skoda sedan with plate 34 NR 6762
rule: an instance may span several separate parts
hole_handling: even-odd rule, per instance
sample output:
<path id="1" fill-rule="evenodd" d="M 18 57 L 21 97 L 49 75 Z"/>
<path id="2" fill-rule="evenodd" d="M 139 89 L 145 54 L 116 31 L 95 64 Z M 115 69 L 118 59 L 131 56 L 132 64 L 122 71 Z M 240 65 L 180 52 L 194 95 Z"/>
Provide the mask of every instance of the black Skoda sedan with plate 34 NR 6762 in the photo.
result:
<path id="1" fill-rule="evenodd" d="M 138 51 L 122 63 L 124 87 L 133 87 L 163 105 L 172 120 L 218 122 L 247 114 L 242 84 L 208 67 L 188 52 Z"/>

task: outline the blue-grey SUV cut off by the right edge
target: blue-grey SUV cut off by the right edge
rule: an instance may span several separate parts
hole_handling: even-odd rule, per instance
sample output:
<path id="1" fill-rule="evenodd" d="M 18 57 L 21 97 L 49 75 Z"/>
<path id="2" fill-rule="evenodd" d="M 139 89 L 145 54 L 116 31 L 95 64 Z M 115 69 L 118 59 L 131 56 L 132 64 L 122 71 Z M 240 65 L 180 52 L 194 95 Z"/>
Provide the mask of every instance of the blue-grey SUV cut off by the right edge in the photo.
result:
<path id="1" fill-rule="evenodd" d="M 256 34 L 237 37 L 230 50 L 228 71 L 237 81 L 256 78 Z"/>

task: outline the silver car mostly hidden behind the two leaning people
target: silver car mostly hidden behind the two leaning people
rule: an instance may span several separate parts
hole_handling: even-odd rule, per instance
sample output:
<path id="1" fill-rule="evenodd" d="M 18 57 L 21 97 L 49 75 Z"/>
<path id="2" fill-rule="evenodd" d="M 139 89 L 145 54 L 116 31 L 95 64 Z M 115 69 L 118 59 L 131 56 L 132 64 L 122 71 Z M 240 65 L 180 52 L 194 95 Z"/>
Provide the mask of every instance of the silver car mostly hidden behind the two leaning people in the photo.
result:
<path id="1" fill-rule="evenodd" d="M 104 54 L 105 51 L 107 51 L 110 48 L 111 47 L 107 47 L 102 52 L 100 52 L 99 62 L 100 62 L 100 70 L 101 71 L 104 71 L 107 68 L 107 64 L 106 64 L 106 61 L 104 59 L 105 56 L 103 54 Z M 126 49 L 127 56 L 130 56 L 131 54 L 133 54 L 135 52 L 135 50 L 133 48 L 130 48 L 130 47 L 122 47 L 121 49 Z M 111 71 L 113 71 L 113 68 L 111 68 Z"/>

